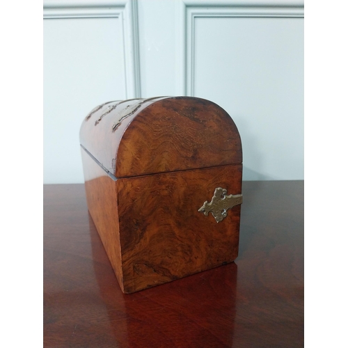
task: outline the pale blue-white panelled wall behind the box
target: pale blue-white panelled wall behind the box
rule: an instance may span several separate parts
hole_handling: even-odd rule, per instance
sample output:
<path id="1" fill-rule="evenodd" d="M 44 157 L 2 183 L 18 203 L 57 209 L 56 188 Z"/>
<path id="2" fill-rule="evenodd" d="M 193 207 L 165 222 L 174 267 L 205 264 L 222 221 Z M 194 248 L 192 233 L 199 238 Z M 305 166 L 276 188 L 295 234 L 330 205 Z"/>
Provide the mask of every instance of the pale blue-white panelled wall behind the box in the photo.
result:
<path id="1" fill-rule="evenodd" d="M 194 95 L 239 129 L 244 180 L 303 179 L 303 2 L 45 1 L 44 182 L 83 182 L 79 126 L 109 100 Z"/>

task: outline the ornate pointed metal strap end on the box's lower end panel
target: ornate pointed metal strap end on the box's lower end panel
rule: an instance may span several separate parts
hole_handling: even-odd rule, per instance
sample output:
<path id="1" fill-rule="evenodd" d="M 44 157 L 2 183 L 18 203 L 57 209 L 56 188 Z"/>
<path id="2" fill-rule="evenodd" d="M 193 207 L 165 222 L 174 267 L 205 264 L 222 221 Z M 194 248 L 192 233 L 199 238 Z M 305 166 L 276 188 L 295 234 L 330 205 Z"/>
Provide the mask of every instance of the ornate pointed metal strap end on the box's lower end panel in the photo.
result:
<path id="1" fill-rule="evenodd" d="M 226 196 L 227 190 L 217 187 L 214 191 L 212 201 L 208 203 L 206 200 L 202 207 L 198 209 L 198 212 L 202 212 L 205 216 L 208 216 L 209 212 L 212 212 L 217 223 L 223 221 L 227 216 L 228 209 L 235 207 L 243 203 L 243 195 Z"/>

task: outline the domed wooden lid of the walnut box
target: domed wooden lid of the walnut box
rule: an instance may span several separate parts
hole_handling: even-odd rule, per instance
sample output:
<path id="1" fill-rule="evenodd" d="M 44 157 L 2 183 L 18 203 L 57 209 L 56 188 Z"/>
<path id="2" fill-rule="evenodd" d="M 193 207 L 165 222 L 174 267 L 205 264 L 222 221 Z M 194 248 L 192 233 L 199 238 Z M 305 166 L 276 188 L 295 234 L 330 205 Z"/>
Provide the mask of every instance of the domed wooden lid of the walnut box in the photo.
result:
<path id="1" fill-rule="evenodd" d="M 116 177 L 242 163 L 233 120 L 220 106 L 196 97 L 149 100 L 111 132 L 125 108 L 139 102 L 119 104 L 95 125 L 113 105 L 106 104 L 81 125 L 81 145 Z"/>

